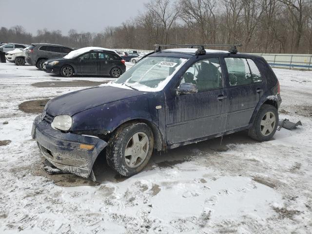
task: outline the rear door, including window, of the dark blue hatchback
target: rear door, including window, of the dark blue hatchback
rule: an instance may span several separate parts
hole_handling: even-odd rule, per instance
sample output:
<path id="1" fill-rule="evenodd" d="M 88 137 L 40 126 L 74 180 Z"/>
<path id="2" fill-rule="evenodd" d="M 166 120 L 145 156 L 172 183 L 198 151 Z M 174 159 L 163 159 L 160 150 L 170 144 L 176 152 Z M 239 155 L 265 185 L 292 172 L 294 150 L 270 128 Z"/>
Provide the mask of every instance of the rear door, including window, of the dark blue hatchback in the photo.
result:
<path id="1" fill-rule="evenodd" d="M 227 131 L 246 127 L 263 95 L 261 74 L 252 59 L 224 58 L 229 78 Z"/>

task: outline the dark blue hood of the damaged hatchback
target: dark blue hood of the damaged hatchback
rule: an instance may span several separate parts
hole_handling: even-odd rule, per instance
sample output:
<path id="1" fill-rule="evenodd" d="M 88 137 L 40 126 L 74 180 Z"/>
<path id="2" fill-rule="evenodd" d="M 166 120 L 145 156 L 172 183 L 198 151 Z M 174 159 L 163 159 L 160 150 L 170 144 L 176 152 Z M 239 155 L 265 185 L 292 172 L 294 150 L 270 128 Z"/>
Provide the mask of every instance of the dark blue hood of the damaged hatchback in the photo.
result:
<path id="1" fill-rule="evenodd" d="M 144 94 L 146 92 L 112 86 L 97 86 L 53 98 L 47 103 L 45 111 L 52 116 L 73 116 L 96 106 Z"/>

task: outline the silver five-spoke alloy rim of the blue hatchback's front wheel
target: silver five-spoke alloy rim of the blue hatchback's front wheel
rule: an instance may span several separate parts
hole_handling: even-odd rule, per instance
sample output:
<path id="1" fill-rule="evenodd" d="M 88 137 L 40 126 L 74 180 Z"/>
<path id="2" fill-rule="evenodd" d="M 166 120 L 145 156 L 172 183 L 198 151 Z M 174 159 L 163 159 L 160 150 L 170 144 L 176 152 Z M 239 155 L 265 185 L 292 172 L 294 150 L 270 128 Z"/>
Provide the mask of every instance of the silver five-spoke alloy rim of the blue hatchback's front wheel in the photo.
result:
<path id="1" fill-rule="evenodd" d="M 149 139 L 143 132 L 134 134 L 128 141 L 124 159 L 126 165 L 131 168 L 137 168 L 141 165 L 147 156 L 149 150 Z"/>

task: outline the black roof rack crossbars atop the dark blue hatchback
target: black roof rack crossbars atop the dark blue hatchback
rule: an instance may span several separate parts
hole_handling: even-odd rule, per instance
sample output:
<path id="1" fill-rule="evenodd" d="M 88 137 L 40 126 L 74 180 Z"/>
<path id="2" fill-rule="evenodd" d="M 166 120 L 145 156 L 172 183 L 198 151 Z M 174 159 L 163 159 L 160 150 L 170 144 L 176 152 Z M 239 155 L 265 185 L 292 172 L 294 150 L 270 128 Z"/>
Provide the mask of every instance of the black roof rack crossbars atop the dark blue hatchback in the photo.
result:
<path id="1" fill-rule="evenodd" d="M 189 47 L 189 48 L 195 48 L 197 47 L 197 51 L 195 52 L 196 55 L 205 55 L 206 54 L 206 50 L 205 47 L 226 47 L 226 46 L 230 46 L 229 52 L 231 54 L 236 54 L 237 53 L 237 48 L 236 47 L 240 47 L 242 46 L 242 44 L 168 44 L 168 45 L 160 45 L 160 44 L 156 44 L 154 45 L 155 48 L 155 52 L 161 51 L 161 47 L 163 46 L 176 46 L 176 47 Z"/>

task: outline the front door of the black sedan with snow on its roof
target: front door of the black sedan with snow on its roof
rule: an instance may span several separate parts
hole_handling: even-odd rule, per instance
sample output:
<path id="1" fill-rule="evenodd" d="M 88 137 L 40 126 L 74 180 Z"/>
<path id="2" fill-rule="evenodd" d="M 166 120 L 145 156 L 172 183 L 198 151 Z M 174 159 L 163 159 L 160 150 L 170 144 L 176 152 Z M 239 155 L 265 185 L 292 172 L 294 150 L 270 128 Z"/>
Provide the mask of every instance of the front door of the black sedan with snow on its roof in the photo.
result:
<path id="1" fill-rule="evenodd" d="M 79 73 L 80 74 L 97 74 L 98 73 L 98 53 L 89 52 L 79 56 Z"/>

